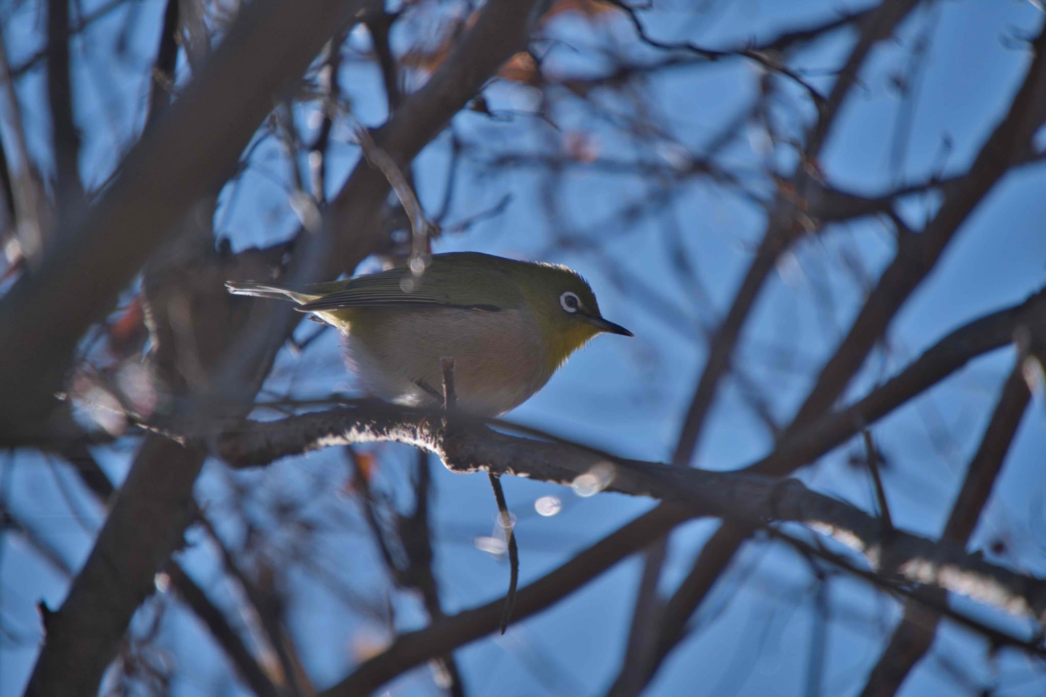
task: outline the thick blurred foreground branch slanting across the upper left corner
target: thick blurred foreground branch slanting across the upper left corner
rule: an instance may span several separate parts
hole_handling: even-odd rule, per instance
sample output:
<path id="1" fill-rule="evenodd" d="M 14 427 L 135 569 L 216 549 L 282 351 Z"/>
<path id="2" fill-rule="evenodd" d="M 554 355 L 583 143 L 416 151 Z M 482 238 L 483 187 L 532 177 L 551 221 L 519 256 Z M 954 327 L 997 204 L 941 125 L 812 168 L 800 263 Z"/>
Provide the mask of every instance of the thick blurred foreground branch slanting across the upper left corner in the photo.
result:
<path id="1" fill-rule="evenodd" d="M 358 6 L 354 0 L 246 6 L 207 70 L 132 149 L 98 202 L 83 219 L 68 222 L 58 234 L 62 245 L 4 296 L 0 440 L 44 436 L 76 342 L 192 204 L 231 169 L 277 92 L 304 72 Z M 276 45 L 280 50 L 272 50 Z"/>

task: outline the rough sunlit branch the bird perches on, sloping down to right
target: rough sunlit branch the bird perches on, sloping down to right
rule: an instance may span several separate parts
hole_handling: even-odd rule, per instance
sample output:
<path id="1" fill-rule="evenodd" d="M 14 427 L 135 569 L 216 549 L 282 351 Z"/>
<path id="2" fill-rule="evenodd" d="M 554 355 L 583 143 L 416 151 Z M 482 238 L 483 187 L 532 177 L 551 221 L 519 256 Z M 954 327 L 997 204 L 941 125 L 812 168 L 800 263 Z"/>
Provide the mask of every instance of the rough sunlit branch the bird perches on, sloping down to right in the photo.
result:
<path id="1" fill-rule="evenodd" d="M 570 485 L 583 475 L 617 491 L 684 504 L 697 515 L 749 524 L 801 522 L 864 554 L 887 575 L 937 585 L 1009 612 L 1046 620 L 1046 582 L 988 564 L 953 545 L 893 531 L 863 511 L 811 491 L 796 480 L 744 472 L 717 472 L 660 463 L 620 460 L 563 443 L 500 434 L 482 425 L 445 421 L 441 413 L 371 404 L 292 416 L 277 421 L 238 421 L 205 439 L 233 466 L 272 462 L 331 445 L 378 441 L 407 443 L 436 454 L 449 469 L 467 473 L 527 477 Z"/>

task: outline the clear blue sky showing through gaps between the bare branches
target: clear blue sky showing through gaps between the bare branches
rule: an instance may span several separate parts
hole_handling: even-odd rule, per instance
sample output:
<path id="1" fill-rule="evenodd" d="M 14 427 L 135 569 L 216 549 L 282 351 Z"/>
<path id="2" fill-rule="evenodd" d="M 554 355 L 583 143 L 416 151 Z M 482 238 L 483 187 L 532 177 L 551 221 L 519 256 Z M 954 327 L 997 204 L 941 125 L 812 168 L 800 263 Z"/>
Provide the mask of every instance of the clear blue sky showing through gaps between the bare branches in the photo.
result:
<path id="1" fill-rule="evenodd" d="M 84 3 L 87 8 L 94 4 Z M 783 26 L 801 26 L 818 18 L 862 5 L 856 2 L 772 3 L 749 0 L 730 3 L 701 22 L 685 19 L 684 4 L 672 3 L 645 13 L 652 33 L 665 39 L 688 38 L 712 47 L 729 46 L 746 38 L 763 39 Z M 717 5 L 718 7 L 718 5 Z M 146 95 L 141 66 L 151 60 L 162 3 L 153 0 L 119 9 L 92 26 L 76 53 L 86 66 L 76 71 L 74 86 L 77 120 L 85 129 L 83 169 L 88 183 L 108 172 L 118 160 L 129 129 L 140 127 L 140 107 Z M 2 10 L 0 10 L 2 11 Z M 128 25 L 128 13 L 137 13 Z M 43 22 L 30 8 L 8 13 L 2 23 L 13 64 L 40 45 Z M 847 190 L 876 194 L 903 182 L 924 180 L 938 169 L 960 172 L 995 122 L 1002 116 L 1028 61 L 1015 37 L 1033 34 L 1042 14 L 1029 2 L 958 0 L 931 3 L 913 14 L 897 40 L 880 46 L 862 72 L 863 85 L 847 101 L 821 158 L 828 181 Z M 403 49 L 416 32 L 431 28 L 432 16 L 419 14 L 394 33 Z M 132 30 L 124 31 L 127 26 Z M 577 17 L 561 16 L 546 27 L 545 69 L 551 74 L 597 74 L 605 59 L 593 57 L 591 47 L 616 47 L 628 55 L 654 54 L 634 43 L 621 18 L 591 25 Z M 121 33 L 122 32 L 122 33 Z M 930 39 L 927 60 L 915 77 L 918 86 L 907 138 L 897 141 L 899 119 L 906 107 L 891 88 L 891 78 L 908 70 L 911 47 L 918 37 Z M 116 36 L 126 36 L 126 53 L 114 56 Z M 363 47 L 366 36 L 354 32 L 353 45 Z M 826 69 L 837 67 L 848 51 L 852 33 L 837 32 L 799 53 L 794 67 L 808 69 L 810 80 L 822 92 L 831 86 Z M 609 43 L 608 43 L 609 42 Z M 30 150 L 46 152 L 48 132 L 43 98 L 43 71 L 22 79 L 19 96 L 27 124 Z M 439 239 L 436 252 L 477 250 L 504 256 L 540 258 L 567 263 L 590 281 L 604 313 L 629 327 L 635 340 L 601 336 L 575 355 L 550 384 L 509 418 L 549 432 L 598 443 L 623 457 L 647 460 L 670 458 L 679 422 L 704 362 L 700 327 L 714 322 L 728 308 L 741 275 L 765 225 L 765 213 L 734 190 L 708 179 L 691 179 L 674 189 L 674 206 L 666 212 L 621 223 L 622 206 L 643 201 L 663 185 L 652 178 L 622 177 L 586 167 L 568 167 L 555 182 L 556 215 L 547 214 L 545 173 L 533 168 L 482 166 L 506 154 L 562 153 L 567 134 L 582 134 L 600 157 L 640 159 L 661 157 L 672 163 L 680 147 L 701 155 L 702 148 L 738 109 L 756 95 L 759 71 L 748 62 L 724 61 L 707 68 L 659 73 L 638 89 L 635 102 L 599 94 L 607 112 L 628 115 L 643 104 L 668 131 L 663 138 L 640 141 L 622 133 L 611 119 L 600 119 L 576 99 L 555 98 L 551 115 L 555 131 L 540 120 L 517 116 L 492 121 L 474 113 L 454 119 L 453 129 L 470 143 L 448 223 L 463 219 L 511 194 L 506 210 L 467 232 Z M 781 78 L 777 78 L 780 83 Z M 357 117 L 368 125 L 385 117 L 380 76 L 372 65 L 350 63 L 342 85 Z M 492 109 L 532 110 L 531 88 L 499 83 L 486 92 Z M 296 115 L 308 123 L 311 107 Z M 775 99 L 775 123 L 782 137 L 799 138 L 813 117 L 809 100 L 795 86 L 784 85 Z M 794 150 L 777 144 L 766 149 L 766 133 L 758 124 L 746 126 L 725 149 L 723 160 L 751 171 L 748 188 L 766 196 L 772 186 L 771 167 L 787 173 Z M 5 143 L 9 137 L 4 134 Z M 942 160 L 941 143 L 952 146 Z M 357 149 L 348 143 L 347 126 L 336 130 L 331 161 L 333 185 L 355 163 Z M 904 144 L 900 166 L 892 153 Z M 444 134 L 417 159 L 415 176 L 423 204 L 439 206 L 447 185 L 449 137 Z M 675 149 L 674 149 L 675 148 Z M 252 167 L 240 188 L 223 193 L 218 230 L 233 248 L 281 239 L 296 226 L 287 205 L 282 182 L 287 163 L 272 139 L 256 148 Z M 941 335 L 993 309 L 1019 302 L 1043 284 L 1046 272 L 1046 166 L 1031 165 L 1007 177 L 978 207 L 949 248 L 937 269 L 912 296 L 886 338 L 887 350 L 867 362 L 848 395 L 859 396 L 888 377 Z M 934 196 L 914 195 L 902 208 L 910 225 L 919 226 L 939 204 Z M 678 232 L 673 232 L 673 230 Z M 674 265 L 665 239 L 678 235 L 687 262 L 696 270 L 700 288 Z M 565 248 L 563 239 L 571 240 Z M 810 387 L 820 364 L 831 355 L 858 307 L 857 303 L 893 253 L 889 228 L 878 219 L 837 225 L 816 238 L 806 238 L 786 256 L 771 278 L 746 325 L 741 356 L 745 372 L 772 393 L 773 411 L 787 421 Z M 867 279 L 840 272 L 846 258 L 858 258 Z M 622 275 L 632 282 L 616 282 Z M 655 296 L 640 289 L 652 288 Z M 658 306 L 658 305 L 662 306 Z M 667 311 L 666 308 L 672 311 Z M 678 311 L 677 311 L 678 310 Z M 668 319 L 666 319 L 668 318 Z M 304 336 L 315 325 L 305 323 Z M 890 459 L 885 484 L 899 525 L 936 535 L 961 482 L 965 461 L 983 429 L 1014 352 L 1000 350 L 973 362 L 941 386 L 890 415 L 876 428 L 876 437 Z M 280 357 L 268 385 L 276 391 L 293 386 L 298 396 L 323 396 L 351 390 L 355 382 L 341 365 L 341 349 L 333 332 L 305 353 Z M 1044 404 L 1038 393 L 1025 415 L 1014 447 L 998 481 L 973 544 L 1004 536 L 1021 567 L 1046 574 L 1042 543 L 1046 535 L 1046 486 L 1041 454 L 1046 450 Z M 727 469 L 743 466 L 766 454 L 772 441 L 753 417 L 735 384 L 726 384 L 711 413 L 693 460 L 697 466 Z M 404 503 L 409 450 L 377 446 L 381 459 L 379 484 Z M 825 457 L 803 478 L 820 491 L 870 507 L 865 478 L 846 464 L 859 451 L 849 443 Z M 127 451 L 98 448 L 110 471 L 121 475 Z M 79 504 L 84 526 L 60 494 L 58 481 L 72 497 L 82 495 L 74 478 L 39 456 L 18 452 L 2 464 L 0 496 L 5 506 L 37 527 L 75 566 L 87 554 L 90 532 L 101 520 L 100 511 L 86 499 Z M 507 583 L 507 565 L 476 548 L 476 537 L 490 535 L 495 508 L 482 477 L 461 477 L 435 469 L 436 568 L 444 588 L 445 609 L 453 612 L 497 598 Z M 281 532 L 272 529 L 269 504 L 310 499 L 310 513 L 329 528 L 321 547 L 311 552 L 332 573 L 345 575 L 354 593 L 381 598 L 387 579 L 381 560 L 368 541 L 359 508 L 339 495 L 345 464 L 338 452 L 286 460 L 262 471 L 229 473 L 210 463 L 198 488 L 200 498 L 229 540 L 244 535 L 246 524 L 230 514 L 230 481 L 252 492 L 254 525 L 269 531 L 272 550 L 280 547 Z M 581 498 L 569 490 L 524 480 L 506 480 L 510 508 L 519 517 L 521 582 L 526 583 L 569 559 L 577 550 L 650 508 L 653 503 L 617 494 Z M 552 517 L 535 513 L 543 495 L 562 498 L 564 508 Z M 87 530 L 83 528 L 86 527 Z M 686 573 L 695 553 L 714 529 L 711 521 L 680 528 L 673 536 L 664 588 L 670 591 Z M 288 536 L 290 539 L 290 536 Z M 221 579 L 214 551 L 200 535 L 190 534 L 182 553 L 194 577 L 222 604 L 235 601 L 235 589 Z M 1014 563 L 1005 558 L 1005 563 Z M 501 638 L 488 637 L 458 652 L 473 694 L 596 694 L 609 686 L 623 651 L 640 564 L 632 558 L 599 577 L 582 591 L 535 618 L 517 624 Z M 354 614 L 317 580 L 315 570 L 291 564 L 288 588 L 292 604 L 290 629 L 299 642 L 305 665 L 317 686 L 344 676 L 346 653 L 361 642 L 380 643 L 384 629 Z M 823 676 L 825 694 L 850 694 L 863 684 L 892 629 L 899 607 L 868 591 L 861 583 L 835 578 L 827 584 L 833 620 L 828 625 L 828 655 Z M 60 575 L 39 561 L 12 535 L 0 538 L 0 617 L 22 641 L 0 643 L 0 694 L 14 694 L 31 668 L 38 623 L 33 603 L 44 598 L 52 607 L 66 589 Z M 795 555 L 786 549 L 759 544 L 746 548 L 740 563 L 699 612 L 701 631 L 684 640 L 662 667 L 649 694 L 691 693 L 695 686 L 707 694 L 799 694 L 814 619 L 816 585 Z M 416 599 L 394 596 L 397 628 L 420 626 L 425 615 Z M 958 600 L 955 603 L 992 623 L 1020 631 L 1020 621 Z M 332 611 L 332 607 L 339 608 Z M 146 607 L 136 622 L 150 619 Z M 227 666 L 191 615 L 167 609 L 161 625 L 162 643 L 180 670 L 173 691 L 178 695 L 208 694 L 212 679 Z M 993 669 L 983 642 L 946 626 L 936 648 L 969 674 L 991 684 L 993 670 L 1006 695 L 1042 694 L 1046 677 L 1013 654 L 1003 654 Z M 738 663 L 737 656 L 748 657 Z M 506 688 L 508 686 L 508 688 Z M 388 686 L 396 694 L 437 694 L 425 669 Z M 229 686 L 232 690 L 233 687 Z M 906 695 L 956 694 L 954 678 L 934 659 L 928 659 L 905 686 Z M 961 694 L 961 691 L 959 691 Z"/>

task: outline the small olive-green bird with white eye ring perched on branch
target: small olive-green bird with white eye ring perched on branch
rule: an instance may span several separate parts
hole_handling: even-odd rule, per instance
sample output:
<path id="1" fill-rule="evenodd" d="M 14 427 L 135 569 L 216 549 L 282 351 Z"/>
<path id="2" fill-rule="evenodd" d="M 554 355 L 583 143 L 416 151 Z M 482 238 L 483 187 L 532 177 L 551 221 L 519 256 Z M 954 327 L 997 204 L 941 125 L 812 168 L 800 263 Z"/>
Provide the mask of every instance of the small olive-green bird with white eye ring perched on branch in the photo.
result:
<path id="1" fill-rule="evenodd" d="M 346 336 L 364 388 L 414 406 L 442 403 L 439 359 L 454 358 L 460 409 L 497 416 L 545 386 L 600 332 L 632 332 L 599 315 L 592 288 L 567 266 L 490 254 L 436 254 L 407 266 L 299 288 L 227 281 L 230 293 L 293 300 Z"/>

